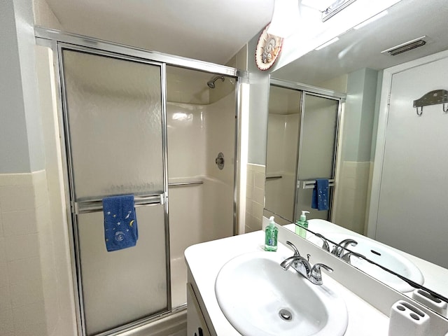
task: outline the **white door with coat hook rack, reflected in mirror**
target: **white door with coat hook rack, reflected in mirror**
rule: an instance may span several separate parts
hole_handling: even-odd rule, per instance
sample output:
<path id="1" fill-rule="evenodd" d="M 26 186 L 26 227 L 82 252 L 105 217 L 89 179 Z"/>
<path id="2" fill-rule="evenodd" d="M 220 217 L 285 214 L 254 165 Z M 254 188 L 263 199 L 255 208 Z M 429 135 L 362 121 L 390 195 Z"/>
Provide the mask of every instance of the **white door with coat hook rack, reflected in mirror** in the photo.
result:
<path id="1" fill-rule="evenodd" d="M 391 83 L 375 238 L 448 267 L 448 113 L 437 104 L 417 116 L 413 107 L 448 90 L 448 59 L 394 73 Z"/>

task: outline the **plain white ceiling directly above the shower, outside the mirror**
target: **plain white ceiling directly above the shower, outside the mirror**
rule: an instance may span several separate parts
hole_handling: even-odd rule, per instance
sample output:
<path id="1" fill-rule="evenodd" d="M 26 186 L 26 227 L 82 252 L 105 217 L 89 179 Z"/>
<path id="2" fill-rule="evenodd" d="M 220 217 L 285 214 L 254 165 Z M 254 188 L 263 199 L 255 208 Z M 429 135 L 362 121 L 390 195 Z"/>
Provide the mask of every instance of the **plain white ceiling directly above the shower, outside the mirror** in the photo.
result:
<path id="1" fill-rule="evenodd" d="M 64 31 L 225 64 L 272 18 L 274 0 L 46 0 Z"/>

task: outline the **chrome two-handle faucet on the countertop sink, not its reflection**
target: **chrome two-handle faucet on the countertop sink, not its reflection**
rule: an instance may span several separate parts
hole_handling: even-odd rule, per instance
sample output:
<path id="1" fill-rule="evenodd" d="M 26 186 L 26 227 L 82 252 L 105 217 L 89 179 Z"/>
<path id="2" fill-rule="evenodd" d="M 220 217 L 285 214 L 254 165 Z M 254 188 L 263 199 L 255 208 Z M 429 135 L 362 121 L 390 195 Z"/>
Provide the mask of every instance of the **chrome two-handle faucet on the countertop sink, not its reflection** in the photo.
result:
<path id="1" fill-rule="evenodd" d="M 311 283 L 314 283 L 318 286 L 322 284 L 321 267 L 328 272 L 333 272 L 333 269 L 331 267 L 328 267 L 324 264 L 317 263 L 314 266 L 311 266 L 311 264 L 309 263 L 309 254 L 307 255 L 307 258 L 303 258 L 293 243 L 291 243 L 290 241 L 286 241 L 286 244 L 293 248 L 294 255 L 283 260 L 280 264 L 281 268 L 286 270 L 292 266 L 293 269 L 297 271 L 297 273 L 302 275 L 305 279 L 311 281 Z"/>

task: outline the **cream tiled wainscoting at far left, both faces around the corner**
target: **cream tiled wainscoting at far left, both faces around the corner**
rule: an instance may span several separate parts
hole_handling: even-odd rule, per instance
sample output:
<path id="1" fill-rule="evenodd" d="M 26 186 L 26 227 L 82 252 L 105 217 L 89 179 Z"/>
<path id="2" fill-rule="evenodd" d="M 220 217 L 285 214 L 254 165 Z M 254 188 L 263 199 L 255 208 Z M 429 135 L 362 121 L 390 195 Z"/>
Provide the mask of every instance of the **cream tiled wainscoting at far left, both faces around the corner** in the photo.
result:
<path id="1" fill-rule="evenodd" d="M 71 314 L 59 302 L 69 288 L 57 281 L 64 255 L 52 246 L 49 204 L 45 171 L 0 174 L 1 336 L 62 335 L 61 316 Z"/>

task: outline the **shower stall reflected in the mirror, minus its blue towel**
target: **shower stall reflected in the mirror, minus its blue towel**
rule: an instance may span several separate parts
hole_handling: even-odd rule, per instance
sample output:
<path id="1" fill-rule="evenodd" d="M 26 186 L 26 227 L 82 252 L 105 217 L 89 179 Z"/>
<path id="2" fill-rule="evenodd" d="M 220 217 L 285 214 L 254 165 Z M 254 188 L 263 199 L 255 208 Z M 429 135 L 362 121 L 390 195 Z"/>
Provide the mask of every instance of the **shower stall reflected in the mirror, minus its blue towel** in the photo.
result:
<path id="1" fill-rule="evenodd" d="M 344 95 L 318 87 L 271 80 L 267 126 L 265 209 L 290 222 L 330 220 L 339 116 Z M 328 179 L 326 211 L 311 209 L 316 179 Z"/>

